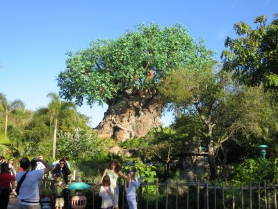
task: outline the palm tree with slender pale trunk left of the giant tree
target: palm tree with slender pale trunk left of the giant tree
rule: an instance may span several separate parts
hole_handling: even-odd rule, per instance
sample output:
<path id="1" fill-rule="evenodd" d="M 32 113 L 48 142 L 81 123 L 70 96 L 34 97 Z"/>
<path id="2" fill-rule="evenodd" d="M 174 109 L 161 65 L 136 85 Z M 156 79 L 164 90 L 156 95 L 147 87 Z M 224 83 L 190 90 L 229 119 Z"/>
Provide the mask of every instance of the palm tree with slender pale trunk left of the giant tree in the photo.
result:
<path id="1" fill-rule="evenodd" d="M 73 102 L 66 102 L 60 100 L 56 93 L 47 94 L 48 98 L 51 98 L 51 102 L 48 105 L 51 121 L 54 121 L 54 132 L 53 132 L 53 147 L 52 147 L 52 158 L 56 157 L 56 138 L 58 129 L 58 120 L 65 116 L 70 116 L 72 112 L 76 111 L 76 104 Z"/>

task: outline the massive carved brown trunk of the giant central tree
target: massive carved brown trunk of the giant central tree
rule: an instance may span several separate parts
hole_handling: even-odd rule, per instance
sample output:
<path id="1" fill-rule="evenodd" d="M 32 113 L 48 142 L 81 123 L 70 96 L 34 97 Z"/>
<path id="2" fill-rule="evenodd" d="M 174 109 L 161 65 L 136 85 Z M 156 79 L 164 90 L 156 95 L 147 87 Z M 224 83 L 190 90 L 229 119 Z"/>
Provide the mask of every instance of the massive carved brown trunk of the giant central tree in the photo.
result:
<path id="1" fill-rule="evenodd" d="M 161 103 L 156 91 L 125 91 L 121 99 L 108 102 L 104 118 L 95 128 L 102 139 L 125 141 L 144 137 L 160 125 Z"/>

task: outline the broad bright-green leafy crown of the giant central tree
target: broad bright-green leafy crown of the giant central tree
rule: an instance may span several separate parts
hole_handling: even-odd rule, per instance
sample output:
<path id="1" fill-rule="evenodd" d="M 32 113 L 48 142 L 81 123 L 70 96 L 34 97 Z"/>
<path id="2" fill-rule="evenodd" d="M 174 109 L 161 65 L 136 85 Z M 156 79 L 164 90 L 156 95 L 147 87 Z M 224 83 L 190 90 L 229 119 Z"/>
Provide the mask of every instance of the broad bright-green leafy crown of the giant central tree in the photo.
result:
<path id="1" fill-rule="evenodd" d="M 69 52 L 58 86 L 63 98 L 75 98 L 77 104 L 83 104 L 83 98 L 90 105 L 110 104 L 123 91 L 156 88 L 173 68 L 190 64 L 200 69 L 212 54 L 180 24 L 163 28 L 140 24 L 117 40 L 92 41 L 88 49 Z"/>

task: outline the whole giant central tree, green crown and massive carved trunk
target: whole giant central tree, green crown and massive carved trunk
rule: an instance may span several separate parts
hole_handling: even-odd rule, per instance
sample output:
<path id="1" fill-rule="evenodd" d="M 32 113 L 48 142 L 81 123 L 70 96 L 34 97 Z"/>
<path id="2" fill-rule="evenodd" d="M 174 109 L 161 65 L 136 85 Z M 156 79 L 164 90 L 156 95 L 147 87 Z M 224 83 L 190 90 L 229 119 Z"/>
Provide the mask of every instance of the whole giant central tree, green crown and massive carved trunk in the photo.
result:
<path id="1" fill-rule="evenodd" d="M 158 82 L 177 67 L 201 70 L 213 52 L 198 44 L 180 24 L 140 24 L 116 40 L 92 41 L 88 49 L 69 52 L 67 68 L 58 75 L 60 95 L 83 104 L 108 104 L 96 127 L 99 137 L 117 141 L 143 137 L 160 125 Z"/>

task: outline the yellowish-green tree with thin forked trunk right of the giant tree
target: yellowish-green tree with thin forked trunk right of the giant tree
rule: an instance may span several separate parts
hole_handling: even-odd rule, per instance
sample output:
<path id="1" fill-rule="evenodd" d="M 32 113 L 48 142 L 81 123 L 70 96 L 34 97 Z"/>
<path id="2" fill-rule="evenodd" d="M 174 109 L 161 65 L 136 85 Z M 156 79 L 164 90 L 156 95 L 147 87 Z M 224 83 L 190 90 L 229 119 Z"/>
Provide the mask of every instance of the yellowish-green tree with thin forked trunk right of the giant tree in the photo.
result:
<path id="1" fill-rule="evenodd" d="M 266 136 L 261 121 L 270 118 L 271 109 L 270 100 L 265 99 L 267 94 L 262 90 L 261 86 L 239 86 L 232 82 L 230 72 L 213 68 L 200 72 L 181 68 L 172 72 L 160 88 L 163 101 L 177 111 L 178 121 L 186 120 L 173 126 L 177 132 L 188 132 L 186 140 L 199 138 L 208 147 L 211 178 L 215 178 L 218 150 L 225 155 L 222 148 L 225 141 L 245 140 L 247 134 Z"/>

